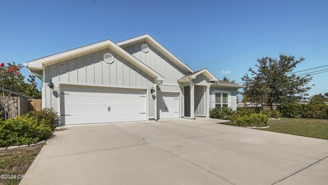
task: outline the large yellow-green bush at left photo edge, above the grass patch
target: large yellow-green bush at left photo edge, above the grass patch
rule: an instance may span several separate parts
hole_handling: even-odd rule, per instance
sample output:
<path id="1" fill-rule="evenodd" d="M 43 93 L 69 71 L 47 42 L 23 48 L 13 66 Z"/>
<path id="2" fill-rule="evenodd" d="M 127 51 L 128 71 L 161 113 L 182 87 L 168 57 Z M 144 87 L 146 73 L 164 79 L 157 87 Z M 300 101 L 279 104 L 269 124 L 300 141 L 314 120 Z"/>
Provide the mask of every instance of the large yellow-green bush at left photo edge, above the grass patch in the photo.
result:
<path id="1" fill-rule="evenodd" d="M 0 146 L 28 145 L 47 139 L 52 131 L 49 126 L 38 124 L 27 115 L 0 121 Z"/>

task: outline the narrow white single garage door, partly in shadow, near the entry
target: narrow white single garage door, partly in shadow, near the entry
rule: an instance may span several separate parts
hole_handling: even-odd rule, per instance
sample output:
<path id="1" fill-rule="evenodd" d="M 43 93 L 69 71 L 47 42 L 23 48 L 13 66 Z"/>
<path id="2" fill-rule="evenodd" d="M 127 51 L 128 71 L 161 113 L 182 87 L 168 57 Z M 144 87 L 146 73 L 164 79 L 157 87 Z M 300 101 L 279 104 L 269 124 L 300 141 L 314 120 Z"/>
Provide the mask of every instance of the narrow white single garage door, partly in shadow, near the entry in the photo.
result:
<path id="1" fill-rule="evenodd" d="M 179 118 L 179 93 L 157 92 L 157 118 Z"/>

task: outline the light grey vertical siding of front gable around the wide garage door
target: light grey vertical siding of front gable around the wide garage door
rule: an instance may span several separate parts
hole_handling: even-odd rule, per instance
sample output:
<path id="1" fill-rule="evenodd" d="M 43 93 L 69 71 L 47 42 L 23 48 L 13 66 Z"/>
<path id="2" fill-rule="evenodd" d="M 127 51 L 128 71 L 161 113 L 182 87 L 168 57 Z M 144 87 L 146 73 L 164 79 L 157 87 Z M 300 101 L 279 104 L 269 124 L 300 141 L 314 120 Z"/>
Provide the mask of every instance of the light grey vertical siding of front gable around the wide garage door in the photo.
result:
<path id="1" fill-rule="evenodd" d="M 105 53 L 113 54 L 114 63 L 107 64 L 103 61 Z M 153 77 L 110 49 L 103 49 L 46 66 L 45 75 L 45 83 L 48 84 L 51 80 L 55 85 L 53 92 L 48 87 L 45 88 L 47 97 L 45 106 L 53 107 L 56 111 L 59 110 L 57 105 L 59 83 L 151 89 L 155 82 Z M 149 117 L 154 116 L 154 100 L 150 96 Z"/>

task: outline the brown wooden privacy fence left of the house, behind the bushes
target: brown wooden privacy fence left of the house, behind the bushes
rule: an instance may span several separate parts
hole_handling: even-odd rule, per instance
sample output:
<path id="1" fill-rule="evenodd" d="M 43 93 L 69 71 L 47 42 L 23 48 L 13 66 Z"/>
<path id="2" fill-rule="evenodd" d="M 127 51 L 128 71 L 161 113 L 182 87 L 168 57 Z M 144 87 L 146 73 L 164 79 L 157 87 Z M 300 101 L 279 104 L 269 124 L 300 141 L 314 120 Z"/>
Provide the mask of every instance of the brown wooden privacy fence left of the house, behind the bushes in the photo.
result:
<path id="1" fill-rule="evenodd" d="M 42 100 L 41 99 L 26 99 L 23 97 L 20 97 L 20 98 L 12 97 L 12 98 L 17 99 L 17 102 L 12 104 L 12 106 L 10 108 L 10 113 L 11 113 L 12 118 L 26 114 L 32 110 L 39 111 L 42 109 Z M 13 102 L 13 101 L 14 100 L 11 100 L 11 102 Z M 5 117 L 4 108 L 1 107 L 1 110 L 3 111 L 1 116 Z"/>

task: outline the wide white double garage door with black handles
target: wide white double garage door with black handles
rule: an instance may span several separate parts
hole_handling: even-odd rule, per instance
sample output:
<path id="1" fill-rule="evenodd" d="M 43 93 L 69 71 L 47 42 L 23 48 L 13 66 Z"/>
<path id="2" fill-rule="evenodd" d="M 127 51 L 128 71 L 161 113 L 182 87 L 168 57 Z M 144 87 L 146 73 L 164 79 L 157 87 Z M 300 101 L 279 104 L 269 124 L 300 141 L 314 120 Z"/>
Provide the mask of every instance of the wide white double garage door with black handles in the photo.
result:
<path id="1" fill-rule="evenodd" d="M 144 89 L 90 86 L 62 88 L 61 124 L 147 120 Z"/>

